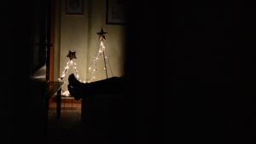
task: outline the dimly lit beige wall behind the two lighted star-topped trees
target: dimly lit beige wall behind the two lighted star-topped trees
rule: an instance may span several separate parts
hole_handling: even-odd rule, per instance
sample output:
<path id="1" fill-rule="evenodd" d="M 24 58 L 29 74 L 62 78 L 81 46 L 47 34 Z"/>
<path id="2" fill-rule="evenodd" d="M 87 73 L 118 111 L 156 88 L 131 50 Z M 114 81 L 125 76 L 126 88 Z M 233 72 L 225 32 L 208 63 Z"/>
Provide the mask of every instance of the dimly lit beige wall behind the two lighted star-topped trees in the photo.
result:
<path id="1" fill-rule="evenodd" d="M 99 35 L 96 32 L 108 32 L 103 41 L 109 66 L 108 78 L 124 74 L 125 26 L 106 24 L 106 0 L 84 0 L 84 14 L 66 14 L 66 1 L 56 0 L 55 3 L 55 63 L 54 80 L 58 80 L 69 60 L 68 51 L 76 51 L 75 62 L 79 79 L 84 81 L 89 74 L 88 68 L 100 47 Z M 96 78 L 92 81 L 105 79 L 104 61 L 97 60 Z M 107 67 L 108 70 L 110 68 Z M 102 70 L 102 71 L 101 71 Z M 76 73 L 70 66 L 63 81 L 67 88 L 67 77 Z"/>

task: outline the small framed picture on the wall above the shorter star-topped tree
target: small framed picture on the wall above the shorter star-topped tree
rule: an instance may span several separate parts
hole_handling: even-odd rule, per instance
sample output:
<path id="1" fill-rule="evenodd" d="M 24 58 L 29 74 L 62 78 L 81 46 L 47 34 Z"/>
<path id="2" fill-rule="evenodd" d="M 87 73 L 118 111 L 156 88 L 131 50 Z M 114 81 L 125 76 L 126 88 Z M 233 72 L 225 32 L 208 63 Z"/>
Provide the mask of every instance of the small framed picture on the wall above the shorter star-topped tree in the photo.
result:
<path id="1" fill-rule="evenodd" d="M 66 14 L 83 14 L 83 0 L 66 0 Z"/>

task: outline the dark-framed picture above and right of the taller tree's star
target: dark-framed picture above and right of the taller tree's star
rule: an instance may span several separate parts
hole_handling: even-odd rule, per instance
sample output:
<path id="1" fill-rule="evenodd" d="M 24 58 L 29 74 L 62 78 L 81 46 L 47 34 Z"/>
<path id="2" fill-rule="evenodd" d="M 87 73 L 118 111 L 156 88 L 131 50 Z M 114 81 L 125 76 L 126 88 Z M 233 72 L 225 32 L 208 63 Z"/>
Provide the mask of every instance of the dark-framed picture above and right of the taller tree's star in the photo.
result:
<path id="1" fill-rule="evenodd" d="M 107 20 L 108 25 L 125 24 L 125 1 L 124 0 L 107 0 Z"/>

